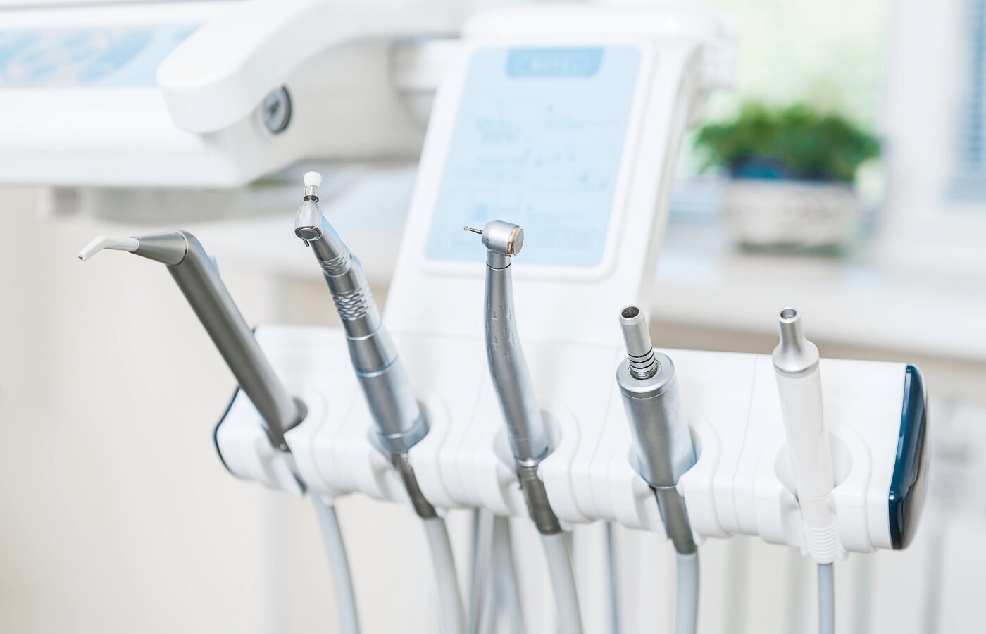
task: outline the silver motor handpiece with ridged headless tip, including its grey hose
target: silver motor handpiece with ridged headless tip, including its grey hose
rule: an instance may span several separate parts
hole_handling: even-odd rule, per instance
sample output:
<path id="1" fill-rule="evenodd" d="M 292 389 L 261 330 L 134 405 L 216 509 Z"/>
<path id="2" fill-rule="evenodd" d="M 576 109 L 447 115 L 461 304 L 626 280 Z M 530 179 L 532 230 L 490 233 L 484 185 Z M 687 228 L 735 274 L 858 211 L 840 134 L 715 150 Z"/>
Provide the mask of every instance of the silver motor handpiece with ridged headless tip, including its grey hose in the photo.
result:
<path id="1" fill-rule="evenodd" d="M 678 399 L 674 363 L 654 350 L 639 308 L 624 308 L 619 323 L 627 358 L 616 369 L 616 383 L 630 424 L 633 466 L 654 490 L 676 553 L 674 634 L 693 634 L 698 615 L 698 549 L 677 483 L 695 464 L 695 447 Z"/>

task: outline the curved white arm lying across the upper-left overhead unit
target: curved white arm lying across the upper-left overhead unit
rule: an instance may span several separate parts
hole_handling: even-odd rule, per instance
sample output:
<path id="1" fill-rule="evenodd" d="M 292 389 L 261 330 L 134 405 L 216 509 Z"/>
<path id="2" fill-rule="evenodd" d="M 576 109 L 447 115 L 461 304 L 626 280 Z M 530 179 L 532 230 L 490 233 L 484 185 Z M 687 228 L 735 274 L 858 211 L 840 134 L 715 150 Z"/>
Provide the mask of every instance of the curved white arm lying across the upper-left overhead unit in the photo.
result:
<path id="1" fill-rule="evenodd" d="M 215 132 L 242 120 L 318 52 L 361 40 L 458 31 L 458 17 L 374 0 L 251 0 L 183 41 L 158 68 L 175 124 Z"/>

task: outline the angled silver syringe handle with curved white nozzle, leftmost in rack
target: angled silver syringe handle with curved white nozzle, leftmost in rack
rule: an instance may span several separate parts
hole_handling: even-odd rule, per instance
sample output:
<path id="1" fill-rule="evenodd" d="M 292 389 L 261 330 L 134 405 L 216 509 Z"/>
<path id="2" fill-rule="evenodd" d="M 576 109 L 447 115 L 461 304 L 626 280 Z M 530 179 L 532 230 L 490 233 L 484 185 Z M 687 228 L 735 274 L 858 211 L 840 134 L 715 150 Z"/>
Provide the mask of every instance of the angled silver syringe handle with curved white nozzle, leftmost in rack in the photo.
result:
<path id="1" fill-rule="evenodd" d="M 198 240 L 183 231 L 135 238 L 100 236 L 79 252 L 79 259 L 89 259 L 103 249 L 129 251 L 168 266 L 181 293 L 260 413 L 271 443 L 287 451 L 284 434 L 305 417 L 305 405 L 292 398 L 281 384 Z"/>

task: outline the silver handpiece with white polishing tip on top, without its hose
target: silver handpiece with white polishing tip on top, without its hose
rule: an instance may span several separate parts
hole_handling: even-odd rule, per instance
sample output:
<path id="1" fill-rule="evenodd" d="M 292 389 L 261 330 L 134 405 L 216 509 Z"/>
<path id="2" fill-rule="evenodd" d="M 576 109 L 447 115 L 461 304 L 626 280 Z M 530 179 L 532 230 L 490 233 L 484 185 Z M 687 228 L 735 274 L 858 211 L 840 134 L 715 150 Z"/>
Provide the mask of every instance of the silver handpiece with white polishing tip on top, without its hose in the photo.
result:
<path id="1" fill-rule="evenodd" d="M 305 196 L 295 216 L 295 235 L 312 247 L 332 294 L 379 445 L 391 457 L 406 455 L 428 433 L 428 422 L 381 320 L 362 264 L 321 213 L 321 176 L 309 172 L 304 178 Z M 398 469 L 405 466 L 398 465 Z"/>

